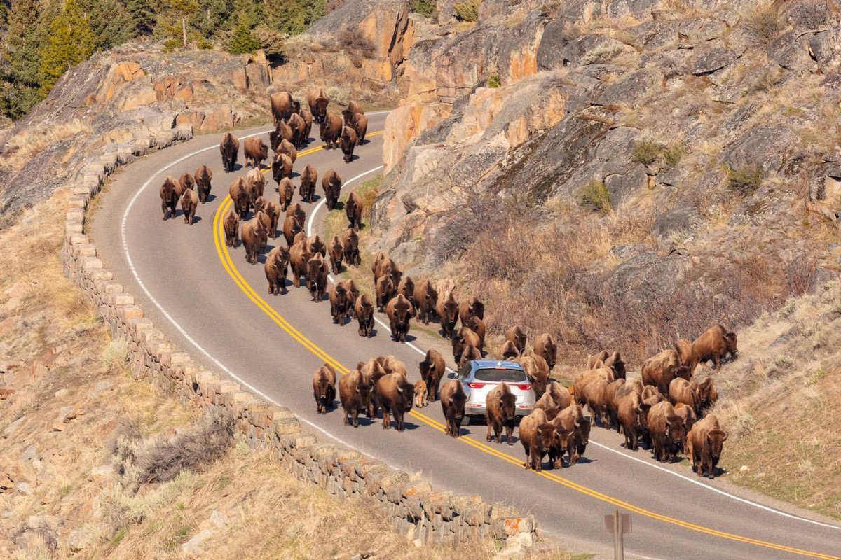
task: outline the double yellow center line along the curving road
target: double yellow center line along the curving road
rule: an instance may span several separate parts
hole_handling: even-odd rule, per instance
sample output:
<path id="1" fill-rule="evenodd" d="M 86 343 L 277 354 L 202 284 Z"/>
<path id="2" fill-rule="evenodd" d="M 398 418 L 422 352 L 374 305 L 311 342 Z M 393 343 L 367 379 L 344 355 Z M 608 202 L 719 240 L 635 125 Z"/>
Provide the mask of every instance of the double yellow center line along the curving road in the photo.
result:
<path id="1" fill-rule="evenodd" d="M 377 136 L 382 133 L 383 131 L 380 130 L 373 133 L 369 133 L 368 136 Z M 321 149 L 323 149 L 322 146 L 305 149 L 301 151 L 298 154 L 298 156 L 304 157 L 309 154 L 315 154 L 315 152 L 318 152 Z M 315 356 L 318 359 L 324 361 L 325 364 L 330 364 L 334 369 L 336 369 L 337 374 L 343 375 L 349 373 L 349 369 L 340 364 L 338 360 L 334 359 L 323 349 L 318 347 L 315 343 L 309 340 L 309 338 L 304 337 L 304 335 L 301 334 L 301 332 L 299 332 L 295 327 L 293 327 L 286 319 L 284 319 L 283 316 L 280 313 L 278 313 L 278 311 L 276 311 L 265 300 L 263 300 L 262 297 L 257 294 L 257 291 L 254 290 L 251 287 L 251 285 L 248 284 L 245 278 L 242 277 L 240 271 L 236 269 L 233 260 L 230 258 L 230 251 L 228 250 L 227 245 L 225 245 L 225 228 L 223 220 L 225 212 L 228 211 L 232 203 L 233 201 L 231 201 L 230 196 L 225 196 L 225 200 L 222 201 L 222 204 L 220 204 L 220 207 L 216 211 L 216 214 L 214 216 L 214 243 L 216 245 L 216 253 L 219 254 L 219 259 L 222 263 L 222 267 L 228 273 L 230 278 L 234 280 L 235 285 L 239 287 L 239 289 L 246 295 L 246 297 L 249 300 L 251 300 L 254 303 L 254 305 L 260 308 L 260 310 L 263 311 L 269 318 L 271 318 L 272 321 L 278 325 L 278 327 L 281 327 L 283 331 L 286 332 L 295 342 L 301 344 L 302 346 L 304 346 L 304 348 L 307 348 L 309 352 L 315 354 Z M 444 432 L 445 427 L 441 422 L 436 421 L 429 416 L 426 416 L 417 409 L 413 409 L 412 411 L 410 411 L 409 416 L 411 416 L 417 421 L 421 421 L 422 423 L 437 430 L 438 432 Z M 502 461 L 505 461 L 505 463 L 510 463 L 520 468 L 523 466 L 523 461 L 521 459 L 515 458 L 514 456 L 509 455 L 508 453 L 503 453 L 499 449 L 491 447 L 485 442 L 479 442 L 470 437 L 459 437 L 456 441 L 462 442 L 470 447 L 478 449 L 482 453 L 487 453 L 495 458 L 499 458 Z M 600 500 L 607 504 L 615 505 L 616 507 L 628 510 L 640 516 L 646 516 L 657 521 L 669 523 L 670 525 L 683 527 L 684 529 L 688 529 L 690 531 L 696 531 L 705 535 L 717 536 L 722 539 L 727 539 L 729 541 L 743 542 L 757 547 L 770 548 L 780 552 L 789 552 L 791 554 L 795 554 L 797 556 L 802 557 L 821 558 L 822 560 L 841 560 L 841 557 L 830 556 L 828 554 L 822 554 L 820 552 L 810 552 L 794 547 L 786 547 L 784 545 L 775 544 L 774 542 L 759 541 L 757 539 L 752 539 L 747 536 L 739 536 L 734 535 L 732 533 L 727 533 L 725 531 L 717 531 L 709 527 L 695 525 L 694 523 L 690 523 L 688 521 L 681 521 L 679 519 L 675 519 L 674 517 L 663 516 L 653 511 L 637 507 L 636 505 L 629 504 L 625 501 L 618 500 L 609 495 L 602 494 L 597 490 L 590 489 L 581 484 L 574 483 L 572 480 L 564 479 L 563 477 L 558 476 L 558 474 L 554 474 L 551 472 L 541 471 L 537 473 L 532 471 L 532 473 L 536 474 L 537 476 L 542 476 L 544 479 L 551 480 L 556 484 L 560 484 L 566 488 L 572 489 L 581 494 L 588 495 L 591 498 L 594 498 L 595 500 Z"/>

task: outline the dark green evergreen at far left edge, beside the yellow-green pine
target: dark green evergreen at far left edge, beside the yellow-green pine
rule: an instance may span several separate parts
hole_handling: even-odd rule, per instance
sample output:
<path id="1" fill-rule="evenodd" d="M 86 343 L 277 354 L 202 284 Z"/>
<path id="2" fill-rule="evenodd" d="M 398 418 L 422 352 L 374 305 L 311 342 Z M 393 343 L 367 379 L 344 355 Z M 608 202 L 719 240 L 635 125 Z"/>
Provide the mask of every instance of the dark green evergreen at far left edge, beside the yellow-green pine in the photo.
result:
<path id="1" fill-rule="evenodd" d="M 15 0 L 8 13 L 8 29 L 3 41 L 3 81 L 0 109 L 11 118 L 23 117 L 42 99 L 39 92 L 37 0 Z"/>

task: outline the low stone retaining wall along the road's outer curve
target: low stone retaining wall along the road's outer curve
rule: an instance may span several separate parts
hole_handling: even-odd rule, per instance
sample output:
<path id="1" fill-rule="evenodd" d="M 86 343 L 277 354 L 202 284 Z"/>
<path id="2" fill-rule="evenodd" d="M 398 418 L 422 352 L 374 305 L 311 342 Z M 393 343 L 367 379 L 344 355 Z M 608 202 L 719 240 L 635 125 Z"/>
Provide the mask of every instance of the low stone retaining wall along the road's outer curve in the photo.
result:
<path id="1" fill-rule="evenodd" d="M 114 275 L 104 270 L 93 240 L 85 234 L 87 204 L 119 165 L 193 137 L 192 127 L 179 125 L 131 143 L 112 144 L 91 160 L 70 186 L 62 263 L 65 274 L 93 302 L 115 339 L 127 344 L 130 370 L 137 379 L 172 395 L 186 406 L 208 414 L 228 415 L 252 447 L 268 447 L 296 477 L 318 484 L 339 498 L 370 496 L 381 505 L 396 531 L 411 541 L 457 542 L 462 536 L 492 536 L 510 546 L 530 546 L 533 516 L 521 516 L 502 504 L 486 504 L 481 496 L 438 492 L 426 482 L 389 468 L 301 429 L 283 406 L 258 399 L 239 384 L 202 369 L 180 352 L 144 317 L 135 299 Z"/>

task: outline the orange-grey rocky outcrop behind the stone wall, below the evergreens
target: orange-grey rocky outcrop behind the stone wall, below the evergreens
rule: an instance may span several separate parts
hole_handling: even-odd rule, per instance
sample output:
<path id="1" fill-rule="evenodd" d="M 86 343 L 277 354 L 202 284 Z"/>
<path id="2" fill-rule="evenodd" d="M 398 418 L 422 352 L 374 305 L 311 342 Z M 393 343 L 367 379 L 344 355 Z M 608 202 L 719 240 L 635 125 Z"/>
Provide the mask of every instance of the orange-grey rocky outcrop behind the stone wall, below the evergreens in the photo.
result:
<path id="1" fill-rule="evenodd" d="M 87 154 L 133 149 L 150 131 L 188 125 L 219 131 L 271 120 L 268 94 L 305 100 L 324 86 L 335 103 L 392 107 L 414 26 L 407 3 L 346 3 L 289 39 L 282 60 L 223 50 L 164 52 L 136 40 L 68 71 L 45 101 L 0 128 L 0 214 L 44 200 Z M 2 125 L 3 123 L 0 123 Z"/>

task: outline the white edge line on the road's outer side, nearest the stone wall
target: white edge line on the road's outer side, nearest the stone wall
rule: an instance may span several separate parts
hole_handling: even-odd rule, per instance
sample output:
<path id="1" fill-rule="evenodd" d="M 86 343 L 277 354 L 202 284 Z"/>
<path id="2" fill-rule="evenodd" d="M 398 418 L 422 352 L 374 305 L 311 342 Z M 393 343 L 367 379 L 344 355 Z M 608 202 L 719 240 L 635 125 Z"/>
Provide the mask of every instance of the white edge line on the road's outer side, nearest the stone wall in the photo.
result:
<path id="1" fill-rule="evenodd" d="M 376 113 L 368 113 L 368 114 L 369 114 L 369 115 L 375 115 L 375 114 L 381 114 L 381 113 L 389 113 L 389 111 L 378 111 L 378 112 L 376 112 Z M 272 128 L 269 128 L 268 130 L 263 130 L 263 131 L 261 131 L 261 132 L 257 132 L 257 133 L 253 133 L 253 134 L 246 134 L 245 136 L 241 136 L 241 137 L 239 137 L 239 139 L 241 139 L 241 140 L 242 140 L 242 139 L 250 138 L 251 136 L 259 136 L 260 134 L 265 134 L 265 133 L 267 133 L 267 132 L 270 132 L 271 130 L 272 130 Z M 211 355 L 211 354 L 210 354 L 207 350 L 205 350 L 205 349 L 204 349 L 204 347 L 202 347 L 199 343 L 197 343 L 197 342 L 193 339 L 193 337 L 191 337 L 190 335 L 188 335 L 187 331 L 185 331 L 185 330 L 183 329 L 183 327 L 182 327 L 181 325 L 179 325 L 179 324 L 175 321 L 175 319 L 173 319 L 173 318 L 172 318 L 172 316 L 170 316 L 170 314 L 169 314 L 169 313 L 167 313 L 167 311 L 163 308 L 163 306 L 161 306 L 161 304 L 160 304 L 160 303 L 158 303 L 158 301 L 155 299 L 155 297 L 151 295 L 151 293 L 149 292 L 149 290 L 148 290 L 148 289 L 146 289 L 146 286 L 145 286 L 145 284 L 143 283 L 143 280 L 140 280 L 140 275 L 138 275 L 137 270 L 135 269 L 135 264 L 134 264 L 134 262 L 131 260 L 131 255 L 129 254 L 129 243 L 128 243 L 128 240 L 126 239 L 126 234 L 125 234 L 125 224 L 126 224 L 126 221 L 127 221 L 128 217 L 129 217 L 129 212 L 131 212 L 131 208 L 132 208 L 132 207 L 134 207 L 134 205 L 135 205 L 135 201 L 137 201 L 137 199 L 140 197 L 140 194 L 142 194 L 142 193 L 143 193 L 143 191 L 145 191 L 146 187 L 148 187 L 148 186 L 150 186 L 150 185 L 151 185 L 151 182 L 152 182 L 152 180 L 153 180 L 153 179 L 155 179 L 158 175 L 161 175 L 161 173 L 163 173 L 164 171 L 168 170 L 168 169 L 169 169 L 170 167 L 172 167 L 173 165 L 177 165 L 177 164 L 181 163 L 183 160 L 188 160 L 189 158 L 192 158 L 192 157 L 193 157 L 193 156 L 195 156 L 195 155 L 198 155 L 198 154 L 201 154 L 202 152 L 206 152 L 206 151 L 209 151 L 209 150 L 211 150 L 211 149 L 216 149 L 216 148 L 217 148 L 217 146 L 212 145 L 212 146 L 209 146 L 209 147 L 207 147 L 207 148 L 198 149 L 198 150 L 196 150 L 196 151 L 194 151 L 194 152 L 191 152 L 191 153 L 189 153 L 189 154 L 187 154 L 187 155 L 184 155 L 184 156 L 182 156 L 182 157 L 178 158 L 177 160 L 173 161 L 173 162 L 172 162 L 172 163 L 170 163 L 169 165 L 165 165 L 164 167 L 161 167 L 161 168 L 160 168 L 159 170 L 157 170 L 157 171 L 156 171 L 153 175 L 151 175 L 151 177 L 150 177 L 149 179 L 147 179 L 147 180 L 145 181 L 145 183 L 143 183 L 143 185 L 141 185 L 141 186 L 140 186 L 140 189 L 138 189 L 138 191 L 137 191 L 137 192 L 135 192 L 135 196 L 132 196 L 132 197 L 131 197 L 131 200 L 129 201 L 129 205 L 128 205 L 127 207 L 125 207 L 125 212 L 123 213 L 123 219 L 122 219 L 122 222 L 120 222 L 120 235 L 121 235 L 121 237 L 122 237 L 122 242 L 123 242 L 123 253 L 125 254 L 125 259 L 126 259 L 126 260 L 128 261 L 128 263 L 129 263 L 129 268 L 130 268 L 130 270 L 131 270 L 131 274 L 135 276 L 135 280 L 137 281 L 138 285 L 140 285 L 140 289 L 144 291 L 144 293 L 145 293 L 146 297 L 148 297 L 148 298 L 149 298 L 149 301 L 151 301 L 153 304 L 155 304 L 155 306 L 157 307 L 158 311 L 161 311 L 161 313 L 163 314 L 163 316 L 164 316 L 164 317 L 167 317 L 167 321 L 169 321 L 170 323 L 172 323 L 172 326 L 173 326 L 173 327 L 175 327 L 175 328 L 176 328 L 176 330 L 177 330 L 178 332 L 180 332 L 180 333 L 181 333 L 182 337 L 186 338 L 186 339 L 187 339 L 187 341 L 188 341 L 189 343 L 193 344 L 193 346 L 194 346 L 194 347 L 195 347 L 195 348 L 196 348 L 199 352 L 203 353 L 203 354 L 204 354 L 204 355 L 205 355 L 205 356 L 206 356 L 206 357 L 207 357 L 207 358 L 208 358 L 211 362 L 213 362 L 213 363 L 214 363 L 214 364 L 215 364 L 215 365 L 216 365 L 219 369 L 221 369 L 222 371 L 224 371 L 224 372 L 225 372 L 225 374 L 230 375 L 230 377 L 232 377 L 233 379 L 236 379 L 239 383 L 241 383 L 241 385 L 246 386 L 246 387 L 247 387 L 249 390 L 251 390 L 252 392 L 256 393 L 257 395 L 261 396 L 263 399 L 266 399 L 267 401 L 269 401 L 270 403 L 272 403 L 272 405 L 274 405 L 274 406 L 283 406 L 283 405 L 282 405 L 282 404 L 280 404 L 277 400 L 272 399 L 272 397 L 270 397 L 269 395 L 266 395 L 266 393 L 263 393 L 263 392 L 262 392 L 262 390 L 257 389 L 257 387 L 255 387 L 254 385 L 251 385 L 251 384 L 250 384 L 250 383 L 248 383 L 245 379 L 242 379 L 239 375 L 235 374 L 233 371 L 231 371 L 230 369 L 228 369 L 227 367 L 225 367 L 225 364 L 222 364 L 222 363 L 221 363 L 218 359 L 215 359 L 215 358 L 214 358 L 214 356 L 213 356 L 213 355 Z M 382 165 L 380 165 L 377 169 L 381 169 L 382 167 L 383 167 L 383 166 L 382 166 Z M 315 213 L 315 212 L 314 212 L 314 213 Z M 214 235 L 215 235 L 215 232 L 214 232 Z M 368 458 L 375 458 L 372 454 L 370 454 L 370 453 L 366 453 L 365 451 L 362 451 L 362 449 L 360 449 L 360 448 L 358 448 L 358 447 L 356 447 L 356 446 L 354 446 L 354 445 L 352 445 L 352 444 L 350 444 L 350 443 L 348 443 L 348 442 L 345 442 L 344 440 L 342 440 L 342 439 L 341 439 L 341 437 L 336 437 L 336 436 L 335 436 L 335 435 L 333 435 L 331 432 L 327 432 L 324 428 L 322 428 L 322 427 L 318 426 L 317 424 L 315 424 L 315 423 L 314 423 L 314 422 L 312 422 L 312 421 L 307 420 L 307 419 L 306 419 L 306 418 L 304 418 L 303 416 L 299 416 L 299 415 L 297 415 L 297 414 L 296 414 L 296 415 L 295 415 L 295 417 L 296 417 L 296 418 L 298 418 L 298 420 L 299 420 L 299 421 L 303 421 L 303 422 L 304 422 L 307 426 L 309 426 L 309 427 L 313 427 L 313 428 L 315 428 L 315 430 L 317 430 L 317 431 L 319 431 L 319 432 L 323 433 L 325 436 L 330 437 L 330 438 L 331 438 L 331 439 L 333 439 L 333 440 L 336 440 L 336 442 L 339 442 L 339 443 L 341 443 L 342 445 L 344 445 L 344 446 L 346 446 L 346 447 L 350 447 L 351 449 L 354 449 L 354 450 L 358 451 L 359 453 L 362 453 L 362 455 L 365 455 L 365 456 L 366 456 L 366 457 L 368 457 Z M 378 459 L 378 460 L 382 460 L 382 459 Z M 387 461 L 383 461 L 383 463 L 389 464 Z M 393 465 L 390 465 L 390 464 L 389 464 L 389 467 L 391 467 L 391 468 L 396 468 L 396 467 L 394 467 Z"/>

